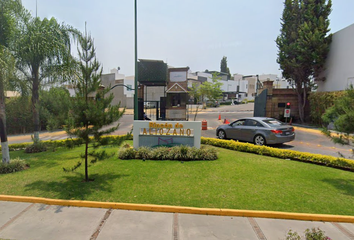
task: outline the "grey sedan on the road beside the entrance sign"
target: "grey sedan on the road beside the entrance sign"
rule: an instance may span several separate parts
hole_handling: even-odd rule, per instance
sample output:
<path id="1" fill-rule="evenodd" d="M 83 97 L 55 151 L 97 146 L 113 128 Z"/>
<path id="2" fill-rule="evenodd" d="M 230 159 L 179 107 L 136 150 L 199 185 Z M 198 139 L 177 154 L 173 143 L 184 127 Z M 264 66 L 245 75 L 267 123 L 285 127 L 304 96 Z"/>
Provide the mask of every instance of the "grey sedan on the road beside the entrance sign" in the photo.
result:
<path id="1" fill-rule="evenodd" d="M 274 118 L 251 117 L 219 126 L 216 136 L 220 139 L 235 139 L 262 146 L 293 141 L 295 130 Z"/>

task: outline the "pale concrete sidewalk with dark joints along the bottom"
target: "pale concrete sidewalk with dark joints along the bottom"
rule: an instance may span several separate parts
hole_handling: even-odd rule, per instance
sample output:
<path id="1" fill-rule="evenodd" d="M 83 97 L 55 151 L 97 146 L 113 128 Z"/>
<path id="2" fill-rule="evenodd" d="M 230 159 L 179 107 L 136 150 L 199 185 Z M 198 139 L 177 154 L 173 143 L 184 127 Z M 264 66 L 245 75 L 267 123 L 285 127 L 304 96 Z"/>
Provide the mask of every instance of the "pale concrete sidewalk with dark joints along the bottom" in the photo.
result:
<path id="1" fill-rule="evenodd" d="M 286 239 L 320 228 L 331 239 L 354 239 L 354 224 L 253 217 L 65 207 L 0 201 L 0 239 L 199 240 Z"/>

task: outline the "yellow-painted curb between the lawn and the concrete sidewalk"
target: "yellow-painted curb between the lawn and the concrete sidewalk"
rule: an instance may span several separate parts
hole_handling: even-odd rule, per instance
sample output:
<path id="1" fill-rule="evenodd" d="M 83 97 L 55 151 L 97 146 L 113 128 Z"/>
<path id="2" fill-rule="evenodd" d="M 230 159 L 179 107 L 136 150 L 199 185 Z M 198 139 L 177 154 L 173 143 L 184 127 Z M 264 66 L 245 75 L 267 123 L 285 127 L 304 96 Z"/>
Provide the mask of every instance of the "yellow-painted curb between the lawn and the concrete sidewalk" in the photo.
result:
<path id="1" fill-rule="evenodd" d="M 354 223 L 354 216 L 342 216 L 342 215 L 330 215 L 330 214 L 306 214 L 306 213 L 290 213 L 290 212 L 276 212 L 276 211 L 235 210 L 235 209 L 222 209 L 222 208 L 178 207 L 178 206 L 154 205 L 154 204 L 60 200 L 60 199 L 23 197 L 23 196 L 11 196 L 11 195 L 0 195 L 0 201 L 29 202 L 29 203 L 42 203 L 47 205 L 122 209 L 122 210 L 151 211 L 151 212 Z"/>

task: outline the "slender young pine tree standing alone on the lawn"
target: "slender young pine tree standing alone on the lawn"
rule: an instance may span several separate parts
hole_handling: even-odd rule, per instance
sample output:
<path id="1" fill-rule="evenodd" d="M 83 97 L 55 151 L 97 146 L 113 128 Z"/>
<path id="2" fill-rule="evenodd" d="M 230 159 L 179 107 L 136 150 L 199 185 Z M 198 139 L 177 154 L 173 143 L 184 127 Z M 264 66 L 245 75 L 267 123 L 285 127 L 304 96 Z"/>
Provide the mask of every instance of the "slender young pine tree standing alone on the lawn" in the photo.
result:
<path id="1" fill-rule="evenodd" d="M 119 111 L 119 105 L 112 106 L 113 94 L 110 88 L 101 88 L 102 68 L 96 59 L 93 39 L 85 33 L 79 36 L 81 50 L 79 53 L 79 69 L 75 83 L 75 98 L 69 112 L 67 133 L 83 139 L 85 143 L 85 181 L 88 177 L 88 148 L 91 141 L 98 141 L 104 134 L 111 133 L 118 125 L 102 129 L 103 126 L 117 121 L 124 113 Z M 90 136 L 94 139 L 91 140 Z"/>

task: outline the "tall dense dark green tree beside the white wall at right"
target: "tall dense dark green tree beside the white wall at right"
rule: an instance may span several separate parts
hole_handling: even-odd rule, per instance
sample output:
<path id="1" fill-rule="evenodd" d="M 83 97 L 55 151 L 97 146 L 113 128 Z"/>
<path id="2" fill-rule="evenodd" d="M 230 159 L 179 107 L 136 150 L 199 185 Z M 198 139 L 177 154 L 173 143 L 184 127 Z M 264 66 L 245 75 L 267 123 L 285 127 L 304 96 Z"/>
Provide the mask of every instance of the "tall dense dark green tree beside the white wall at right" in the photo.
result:
<path id="1" fill-rule="evenodd" d="M 298 96 L 299 116 L 304 122 L 304 109 L 313 80 L 320 79 L 332 35 L 329 32 L 331 0 L 285 0 L 281 32 L 276 39 L 277 62 L 283 76 L 294 81 Z"/>

